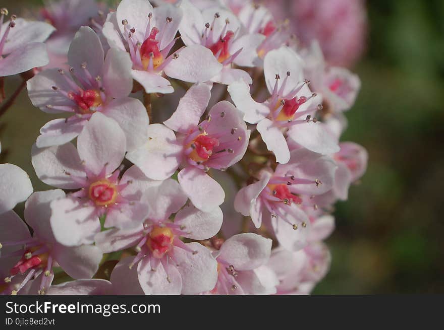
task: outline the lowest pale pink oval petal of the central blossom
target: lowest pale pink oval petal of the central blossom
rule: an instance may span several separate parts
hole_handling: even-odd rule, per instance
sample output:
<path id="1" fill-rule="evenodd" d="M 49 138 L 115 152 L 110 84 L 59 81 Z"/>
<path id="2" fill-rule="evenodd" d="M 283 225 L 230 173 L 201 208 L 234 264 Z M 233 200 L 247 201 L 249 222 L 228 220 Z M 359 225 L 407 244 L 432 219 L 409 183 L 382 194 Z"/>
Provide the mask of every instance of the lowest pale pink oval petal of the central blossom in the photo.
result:
<path id="1" fill-rule="evenodd" d="M 179 172 L 179 183 L 193 205 L 210 212 L 224 203 L 224 189 L 204 171 L 187 166 Z"/>

